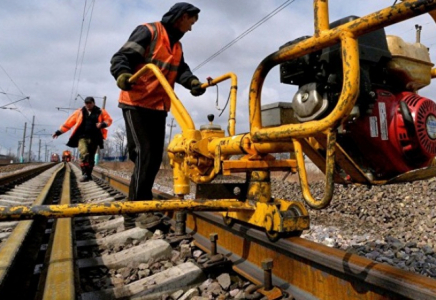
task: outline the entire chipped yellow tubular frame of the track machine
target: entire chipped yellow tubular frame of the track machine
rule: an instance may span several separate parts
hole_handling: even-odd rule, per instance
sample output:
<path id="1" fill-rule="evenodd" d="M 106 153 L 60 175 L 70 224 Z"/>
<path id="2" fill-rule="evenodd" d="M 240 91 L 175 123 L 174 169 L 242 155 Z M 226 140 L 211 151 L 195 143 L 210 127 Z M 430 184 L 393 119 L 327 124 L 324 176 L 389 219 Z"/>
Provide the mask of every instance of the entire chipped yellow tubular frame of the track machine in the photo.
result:
<path id="1" fill-rule="evenodd" d="M 222 130 L 198 130 L 160 70 L 145 65 L 130 82 L 135 82 L 146 72 L 153 72 L 171 98 L 171 113 L 181 128 L 168 147 L 174 174 L 176 199 L 169 201 L 115 202 L 102 205 L 47 206 L 39 208 L 11 207 L 0 209 L 0 219 L 144 212 L 151 210 L 213 210 L 223 211 L 227 221 L 241 220 L 265 228 L 271 237 L 292 234 L 309 227 L 308 212 L 303 203 L 271 197 L 270 172 L 286 170 L 298 172 L 302 195 L 312 208 L 325 208 L 333 197 L 334 183 L 347 183 L 335 171 L 339 165 L 353 182 L 362 184 L 388 184 L 424 179 L 436 174 L 434 167 L 409 172 L 390 180 L 374 181 L 336 143 L 336 128 L 344 122 L 353 109 L 359 94 L 359 52 L 357 38 L 386 26 L 430 13 L 436 19 L 436 0 L 405 0 L 365 17 L 350 21 L 336 28 L 329 28 L 328 0 L 314 0 L 314 35 L 293 45 L 283 47 L 267 56 L 254 72 L 250 85 L 250 132 L 235 133 L 237 77 L 228 73 L 202 85 L 203 88 L 231 80 L 228 136 Z M 343 85 L 338 103 L 333 111 L 321 120 L 299 124 L 286 124 L 264 128 L 261 120 L 261 92 L 268 72 L 275 66 L 303 55 L 340 43 L 342 49 Z M 436 71 L 432 70 L 432 77 Z M 324 149 L 321 156 L 318 149 Z M 271 153 L 292 153 L 290 159 L 276 160 Z M 325 193 L 315 199 L 309 190 L 306 154 L 325 173 Z M 233 155 L 243 155 L 230 160 Z M 217 175 L 247 173 L 245 201 L 237 199 L 183 200 L 190 192 L 190 181 L 209 183 Z"/>

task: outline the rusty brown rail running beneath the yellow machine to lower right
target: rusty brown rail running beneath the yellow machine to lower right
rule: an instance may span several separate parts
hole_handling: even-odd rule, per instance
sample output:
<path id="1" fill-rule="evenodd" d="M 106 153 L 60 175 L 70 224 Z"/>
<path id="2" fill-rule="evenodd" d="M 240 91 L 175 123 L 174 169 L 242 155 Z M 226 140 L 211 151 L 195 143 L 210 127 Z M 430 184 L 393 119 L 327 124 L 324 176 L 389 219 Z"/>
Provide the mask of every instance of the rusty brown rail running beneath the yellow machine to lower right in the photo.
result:
<path id="1" fill-rule="evenodd" d="M 117 185 L 127 184 L 95 170 L 94 175 Z M 159 199 L 173 197 L 157 190 L 154 193 Z M 228 227 L 216 213 L 190 213 L 186 224 L 197 245 L 206 251 L 210 241 L 205 237 L 217 233 L 219 252 L 234 262 L 236 272 L 255 283 L 262 284 L 262 261 L 271 258 L 273 284 L 295 299 L 436 299 L 434 279 L 303 238 L 272 243 L 264 232 L 244 224 Z"/>

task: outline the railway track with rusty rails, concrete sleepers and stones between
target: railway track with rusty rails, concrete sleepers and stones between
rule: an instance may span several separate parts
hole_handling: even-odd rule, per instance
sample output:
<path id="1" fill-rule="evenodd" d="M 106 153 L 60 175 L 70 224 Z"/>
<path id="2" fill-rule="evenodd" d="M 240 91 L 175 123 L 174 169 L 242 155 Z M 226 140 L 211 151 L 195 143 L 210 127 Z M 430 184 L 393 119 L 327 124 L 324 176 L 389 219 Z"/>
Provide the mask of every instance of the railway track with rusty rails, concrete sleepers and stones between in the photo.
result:
<path id="1" fill-rule="evenodd" d="M 22 205 L 124 200 L 125 179 L 93 175 L 95 182 L 77 183 L 79 170 L 73 164 L 52 165 L 4 189 L 0 199 L 15 195 L 18 201 L 15 189 L 27 185 Z M 10 226 L 0 244 L 2 298 L 436 298 L 434 279 L 298 237 L 272 243 L 255 228 L 229 227 L 218 213 L 149 215 L 127 231 L 122 224 L 121 216 L 1 222 L 0 228 Z"/>

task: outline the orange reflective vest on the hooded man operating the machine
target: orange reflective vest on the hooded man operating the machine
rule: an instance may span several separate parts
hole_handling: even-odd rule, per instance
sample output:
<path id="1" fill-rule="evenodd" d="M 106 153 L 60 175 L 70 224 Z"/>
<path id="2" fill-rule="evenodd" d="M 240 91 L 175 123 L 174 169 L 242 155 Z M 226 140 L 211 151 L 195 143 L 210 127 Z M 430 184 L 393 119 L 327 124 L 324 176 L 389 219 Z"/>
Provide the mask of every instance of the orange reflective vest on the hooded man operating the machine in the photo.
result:
<path id="1" fill-rule="evenodd" d="M 156 65 L 174 89 L 177 69 L 182 59 L 182 44 L 177 42 L 171 49 L 170 39 L 162 23 L 144 25 L 151 32 L 151 44 L 144 53 L 145 64 Z M 138 65 L 134 70 L 135 73 L 145 64 Z M 127 105 L 156 110 L 169 111 L 171 107 L 170 97 L 151 71 L 142 75 L 132 86 L 132 90 L 121 91 L 118 101 Z"/>

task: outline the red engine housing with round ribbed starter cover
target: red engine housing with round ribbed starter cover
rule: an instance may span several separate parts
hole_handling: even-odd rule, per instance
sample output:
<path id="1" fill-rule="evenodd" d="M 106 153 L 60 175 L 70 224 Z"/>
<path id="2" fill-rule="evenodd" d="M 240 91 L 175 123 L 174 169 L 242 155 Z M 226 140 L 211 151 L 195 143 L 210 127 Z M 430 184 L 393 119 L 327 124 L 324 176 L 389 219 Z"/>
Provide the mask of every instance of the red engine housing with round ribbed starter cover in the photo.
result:
<path id="1" fill-rule="evenodd" d="M 377 90 L 372 107 L 346 126 L 366 167 L 389 179 L 428 166 L 436 155 L 436 103 L 412 92 Z"/>

